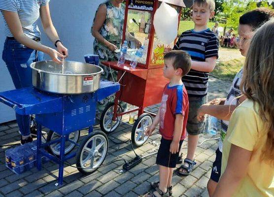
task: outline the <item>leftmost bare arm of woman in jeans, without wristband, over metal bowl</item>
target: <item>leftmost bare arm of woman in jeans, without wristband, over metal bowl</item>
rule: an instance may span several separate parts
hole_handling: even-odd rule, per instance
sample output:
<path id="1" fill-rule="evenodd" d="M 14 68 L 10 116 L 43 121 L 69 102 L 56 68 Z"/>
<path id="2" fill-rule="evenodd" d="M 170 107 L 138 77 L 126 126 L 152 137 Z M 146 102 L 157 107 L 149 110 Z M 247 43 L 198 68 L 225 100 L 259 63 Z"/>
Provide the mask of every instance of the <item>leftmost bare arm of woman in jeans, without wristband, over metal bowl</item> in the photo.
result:
<path id="1" fill-rule="evenodd" d="M 58 59 L 58 57 L 63 58 L 65 56 L 63 56 L 62 54 L 60 54 L 59 52 L 57 52 L 56 50 L 50 47 L 47 47 L 38 42 L 35 42 L 33 39 L 31 39 L 30 37 L 28 37 L 27 35 L 23 33 L 22 25 L 19 20 L 19 16 L 17 12 L 6 11 L 6 10 L 2 10 L 2 11 L 10 32 L 12 33 L 12 35 L 18 42 L 34 50 L 47 53 L 53 61 L 59 64 L 62 63 Z"/>

